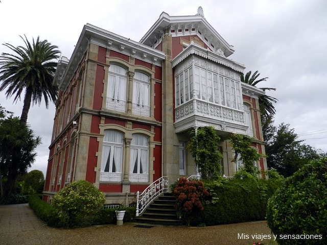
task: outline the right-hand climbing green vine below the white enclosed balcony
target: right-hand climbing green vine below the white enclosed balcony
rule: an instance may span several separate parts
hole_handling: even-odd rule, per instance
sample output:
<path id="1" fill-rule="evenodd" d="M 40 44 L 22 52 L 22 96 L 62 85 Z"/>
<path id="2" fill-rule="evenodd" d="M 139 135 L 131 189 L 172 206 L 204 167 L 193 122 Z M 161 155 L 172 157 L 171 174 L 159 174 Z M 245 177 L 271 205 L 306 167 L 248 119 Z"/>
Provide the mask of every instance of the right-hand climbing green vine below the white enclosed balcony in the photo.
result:
<path id="1" fill-rule="evenodd" d="M 259 154 L 254 148 L 251 147 L 253 139 L 247 135 L 231 134 L 229 136 L 231 148 L 235 151 L 233 162 L 237 162 L 238 156 L 244 165 L 244 170 L 251 175 L 255 175 L 256 167 L 255 161 L 259 161 L 262 154 Z"/>

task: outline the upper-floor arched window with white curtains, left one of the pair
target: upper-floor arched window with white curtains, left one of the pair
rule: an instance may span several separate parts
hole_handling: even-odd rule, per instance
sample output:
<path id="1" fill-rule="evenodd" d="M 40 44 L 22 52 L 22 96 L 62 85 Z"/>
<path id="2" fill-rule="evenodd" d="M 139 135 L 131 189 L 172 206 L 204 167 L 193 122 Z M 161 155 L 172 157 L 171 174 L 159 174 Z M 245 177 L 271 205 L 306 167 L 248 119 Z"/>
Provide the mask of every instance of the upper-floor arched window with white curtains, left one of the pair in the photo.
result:
<path id="1" fill-rule="evenodd" d="M 107 109 L 116 111 L 126 110 L 126 86 L 126 69 L 119 65 L 110 64 L 107 87 Z"/>

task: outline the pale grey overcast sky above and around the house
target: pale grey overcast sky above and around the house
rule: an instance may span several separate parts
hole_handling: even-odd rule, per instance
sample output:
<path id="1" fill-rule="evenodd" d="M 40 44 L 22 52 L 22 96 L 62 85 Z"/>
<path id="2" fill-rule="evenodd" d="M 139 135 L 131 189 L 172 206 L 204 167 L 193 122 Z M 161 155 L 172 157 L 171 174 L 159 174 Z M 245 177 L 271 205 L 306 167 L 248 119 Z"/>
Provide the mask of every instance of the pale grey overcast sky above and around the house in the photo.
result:
<path id="1" fill-rule="evenodd" d="M 51 4 L 50 4 L 51 3 Z M 259 70 L 269 77 L 259 87 L 274 87 L 268 95 L 275 104 L 275 126 L 282 122 L 295 129 L 306 144 L 327 152 L 327 1 L 325 0 L 166 0 L 166 1 L 44 1 L 1 0 L 0 53 L 3 43 L 23 45 L 40 36 L 59 47 L 70 59 L 84 24 L 90 23 L 139 41 L 161 12 L 195 15 L 202 6 L 204 17 L 230 44 L 229 58 L 245 65 L 245 72 Z M 22 103 L 6 100 L 0 104 L 20 116 Z M 34 105 L 28 123 L 41 136 L 38 157 L 32 169 L 44 175 L 55 114 L 54 105 Z M 307 134 L 308 133 L 308 134 Z"/>

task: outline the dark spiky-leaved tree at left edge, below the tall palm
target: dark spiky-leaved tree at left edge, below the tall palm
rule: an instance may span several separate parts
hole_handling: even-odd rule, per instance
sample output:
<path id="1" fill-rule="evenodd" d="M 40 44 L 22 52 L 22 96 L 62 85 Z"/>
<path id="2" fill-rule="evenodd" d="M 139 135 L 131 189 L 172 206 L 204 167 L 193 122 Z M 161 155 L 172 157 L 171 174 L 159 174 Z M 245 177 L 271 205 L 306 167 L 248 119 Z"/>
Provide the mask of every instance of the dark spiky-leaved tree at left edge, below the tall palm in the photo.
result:
<path id="1" fill-rule="evenodd" d="M 35 161 L 40 138 L 18 117 L 0 121 L 0 173 L 7 179 L 2 195 L 9 195 L 19 174 L 26 173 Z"/>

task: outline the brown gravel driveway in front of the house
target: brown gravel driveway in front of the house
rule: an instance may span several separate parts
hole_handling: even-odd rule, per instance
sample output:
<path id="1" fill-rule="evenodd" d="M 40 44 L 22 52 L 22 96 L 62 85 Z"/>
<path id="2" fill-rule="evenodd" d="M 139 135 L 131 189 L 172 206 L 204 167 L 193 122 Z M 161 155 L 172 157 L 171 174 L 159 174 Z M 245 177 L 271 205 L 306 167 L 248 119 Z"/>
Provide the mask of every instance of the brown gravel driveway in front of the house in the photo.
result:
<path id="1" fill-rule="evenodd" d="M 125 223 L 123 226 L 104 225 L 79 229 L 55 229 L 44 225 L 28 204 L 0 206 L 1 245 L 252 245 L 253 242 L 261 240 L 238 239 L 238 234 L 245 233 L 250 236 L 252 234 L 271 234 L 264 221 L 203 228 L 136 228 L 135 225 L 134 223 Z"/>

